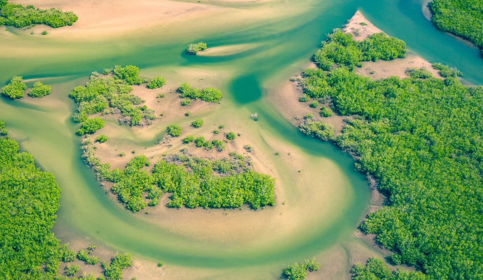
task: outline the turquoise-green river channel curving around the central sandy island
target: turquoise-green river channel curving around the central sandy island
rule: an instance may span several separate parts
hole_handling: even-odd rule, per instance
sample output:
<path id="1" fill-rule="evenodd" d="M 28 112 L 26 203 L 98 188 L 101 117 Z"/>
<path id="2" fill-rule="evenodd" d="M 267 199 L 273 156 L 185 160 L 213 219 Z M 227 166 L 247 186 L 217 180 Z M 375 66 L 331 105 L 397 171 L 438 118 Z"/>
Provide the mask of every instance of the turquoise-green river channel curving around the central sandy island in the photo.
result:
<path id="1" fill-rule="evenodd" d="M 56 175 L 63 189 L 54 228 L 58 236 L 82 236 L 114 250 L 182 267 L 250 268 L 255 271 L 254 275 L 263 269 L 277 271 L 288 263 L 312 257 L 347 238 L 366 210 L 369 186 L 364 175 L 354 171 L 354 160 L 349 155 L 331 144 L 305 137 L 267 103 L 267 99 L 263 98 L 266 86 L 299 73 L 320 41 L 324 40 L 325 34 L 341 27 L 357 9 L 387 34 L 405 40 L 408 47 L 423 58 L 457 67 L 465 74 L 465 80 L 482 84 L 483 59 L 479 51 L 436 29 L 423 16 L 421 3 L 418 0 L 279 1 L 274 5 L 307 5 L 310 9 L 262 24 L 247 23 L 244 27 L 207 31 L 197 37 L 148 38 L 142 44 L 136 43 L 136 40 L 126 44 L 126 38 L 105 41 L 30 38 L 26 33 L 9 27 L 16 34 L 8 41 L 0 37 L 0 46 L 27 44 L 31 52 L 14 58 L 8 53 L 0 54 L 0 82 L 6 84 L 13 75 L 22 75 L 24 79 L 53 77 L 49 83 L 53 85 L 55 102 L 25 103 L 1 97 L 0 120 L 7 123 L 12 136 L 20 141 L 23 149 L 34 155 L 44 170 Z M 245 43 L 258 46 L 225 57 L 186 55 L 182 50 L 189 42 L 197 40 L 213 47 Z M 36 49 L 43 50 L 49 46 L 65 52 L 36 54 Z M 75 107 L 68 93 L 73 87 L 84 84 L 92 71 L 100 72 L 104 67 L 128 64 L 139 66 L 141 74 L 146 68 L 163 70 L 175 67 L 234 72 L 222 82 L 226 106 L 233 110 L 258 112 L 260 120 L 256 122 L 256 129 L 260 132 L 280 139 L 281 143 L 310 157 L 319 158 L 320 162 L 330 160 L 341 171 L 340 184 L 348 189 L 341 211 L 327 221 L 313 221 L 309 225 L 311 231 L 301 228 L 297 239 L 290 235 L 282 241 L 267 241 L 263 248 L 242 248 L 229 241 L 201 242 L 198 237 L 163 229 L 118 207 L 99 187 L 93 171 L 85 168 L 80 159 L 81 139 L 72 133 L 78 124 L 71 121 Z M 238 115 L 235 114 L 235 117 Z M 143 144 L 148 145 L 149 141 Z M 291 175 L 284 176 L 279 179 L 291 182 Z M 324 176 L 323 172 L 321 176 Z M 295 192 L 297 187 L 288 189 Z M 258 270 L 253 267 L 258 267 Z M 243 278 L 240 275 L 228 277 Z"/>

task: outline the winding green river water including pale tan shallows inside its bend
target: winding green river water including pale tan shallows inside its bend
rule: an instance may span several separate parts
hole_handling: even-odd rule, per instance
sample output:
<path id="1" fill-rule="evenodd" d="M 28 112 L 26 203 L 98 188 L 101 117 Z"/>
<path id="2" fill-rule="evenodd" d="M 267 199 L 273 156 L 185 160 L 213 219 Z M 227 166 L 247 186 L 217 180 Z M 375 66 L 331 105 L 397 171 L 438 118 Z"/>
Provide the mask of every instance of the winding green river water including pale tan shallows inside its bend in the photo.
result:
<path id="1" fill-rule="evenodd" d="M 8 100 L 2 96 L 0 120 L 6 122 L 10 135 L 34 156 L 43 170 L 56 175 L 62 188 L 54 227 L 58 238 L 68 241 L 82 237 L 114 251 L 133 253 L 136 258 L 217 271 L 218 279 L 277 278 L 287 264 L 311 258 L 348 239 L 366 211 L 370 191 L 365 176 L 354 171 L 354 160 L 329 143 L 299 133 L 270 104 L 265 96 L 267 88 L 299 73 L 325 34 L 341 27 L 357 9 L 389 35 L 405 40 L 423 58 L 457 67 L 465 74 L 465 80 L 482 84 L 483 59 L 479 51 L 434 27 L 423 16 L 422 3 L 422 0 L 277 1 L 270 5 L 286 6 L 294 9 L 294 14 L 229 30 L 207 28 L 204 33 L 186 31 L 160 39 L 149 34 L 127 34 L 114 40 L 59 40 L 29 37 L 28 33 L 8 27 L 8 36 L 0 35 L 0 46 L 22 46 L 24 51 L 0 54 L 0 82 L 6 84 L 14 75 L 24 79 L 48 78 L 44 84 L 52 85 L 53 93 L 43 99 Z M 256 9 L 257 5 L 229 6 Z M 198 40 L 210 47 L 246 43 L 256 47 L 223 57 L 185 54 L 186 45 Z M 51 49 L 54 51 L 48 51 Z M 79 125 L 71 120 L 75 105 L 68 95 L 75 86 L 84 85 L 92 71 L 128 64 L 139 66 L 141 76 L 163 75 L 174 68 L 229 73 L 227 79 L 219 81 L 224 107 L 213 114 L 245 125 L 257 135 L 264 152 L 270 152 L 273 143 L 290 147 L 294 154 L 301 155 L 306 168 L 298 173 L 271 157 L 271 164 L 280 174 L 276 186 L 283 188 L 287 204 L 277 201 L 276 206 L 263 210 L 245 209 L 236 213 L 233 210 L 226 219 L 248 216 L 261 221 L 259 216 L 292 213 L 290 218 L 301 221 L 296 223 L 297 227 L 285 224 L 277 227 L 267 221 L 267 227 L 254 225 L 232 234 L 231 238 L 221 238 L 217 236 L 229 236 L 223 228 L 210 235 L 176 230 L 133 214 L 110 199 L 99 187 L 93 171 L 81 160 L 81 138 L 74 134 Z M 253 112 L 260 117 L 257 122 L 247 117 Z M 244 124 L 248 121 L 252 122 Z M 155 140 L 132 142 L 154 145 Z M 160 203 L 157 207 L 164 206 Z M 176 212 L 175 217 L 178 212 L 189 211 L 205 215 L 206 219 L 210 215 L 225 217 L 223 210 L 169 211 Z M 263 231 L 259 236 L 253 234 L 260 228 Z"/>

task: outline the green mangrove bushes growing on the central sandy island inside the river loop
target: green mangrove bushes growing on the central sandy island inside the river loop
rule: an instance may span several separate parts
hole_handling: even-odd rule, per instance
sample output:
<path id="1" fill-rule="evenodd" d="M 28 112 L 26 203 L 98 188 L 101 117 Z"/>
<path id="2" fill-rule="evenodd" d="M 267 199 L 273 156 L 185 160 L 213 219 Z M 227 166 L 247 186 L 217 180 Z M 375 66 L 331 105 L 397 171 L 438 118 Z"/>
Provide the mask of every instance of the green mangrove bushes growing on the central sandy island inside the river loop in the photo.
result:
<path id="1" fill-rule="evenodd" d="M 106 69 L 104 74 L 93 73 L 85 86 L 78 86 L 71 92 L 71 97 L 78 103 L 73 120 L 82 122 L 78 134 L 92 134 L 104 126 L 100 117 L 89 118 L 89 115 L 96 113 L 119 113 L 122 116 L 119 122 L 130 126 L 149 125 L 156 119 L 154 110 L 141 106 L 143 100 L 130 93 L 131 85 L 146 82 L 139 77 L 138 67 L 116 66 Z M 183 83 L 177 92 L 181 98 L 189 98 L 185 99 L 188 101 L 200 98 L 206 102 L 218 102 L 222 98 L 218 89 L 207 87 L 201 91 L 188 83 Z M 199 127 L 202 120 L 196 119 L 192 125 Z M 182 129 L 177 124 L 171 124 L 167 133 L 171 137 L 178 137 Z M 230 132 L 225 137 L 229 140 L 236 135 Z M 219 139 L 209 142 L 204 137 L 197 137 L 196 140 L 205 148 L 214 147 L 219 151 L 225 148 L 224 142 Z M 250 158 L 236 153 L 229 158 L 210 159 L 192 156 L 187 149 L 183 149 L 176 155 L 159 160 L 151 170 L 145 169 L 151 163 L 144 155 L 130 160 L 124 170 L 111 170 L 110 163 L 102 163 L 96 156 L 96 144 L 91 138 L 82 142 L 82 149 L 83 159 L 87 165 L 94 167 L 97 178 L 113 183 L 111 192 L 133 212 L 147 205 L 157 205 L 165 192 L 171 193 L 168 207 L 221 208 L 249 204 L 257 209 L 275 204 L 275 180 L 267 174 L 255 172 Z"/>

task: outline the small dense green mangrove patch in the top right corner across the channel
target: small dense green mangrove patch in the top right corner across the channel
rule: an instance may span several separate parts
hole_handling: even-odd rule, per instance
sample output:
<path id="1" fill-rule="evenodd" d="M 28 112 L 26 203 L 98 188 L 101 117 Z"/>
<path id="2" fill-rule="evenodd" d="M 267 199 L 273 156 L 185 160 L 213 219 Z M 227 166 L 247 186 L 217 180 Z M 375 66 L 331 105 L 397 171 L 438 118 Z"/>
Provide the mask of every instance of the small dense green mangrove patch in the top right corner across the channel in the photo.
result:
<path id="1" fill-rule="evenodd" d="M 471 41 L 483 54 L 483 3 L 481 0 L 433 0 L 432 22 L 441 30 Z"/>

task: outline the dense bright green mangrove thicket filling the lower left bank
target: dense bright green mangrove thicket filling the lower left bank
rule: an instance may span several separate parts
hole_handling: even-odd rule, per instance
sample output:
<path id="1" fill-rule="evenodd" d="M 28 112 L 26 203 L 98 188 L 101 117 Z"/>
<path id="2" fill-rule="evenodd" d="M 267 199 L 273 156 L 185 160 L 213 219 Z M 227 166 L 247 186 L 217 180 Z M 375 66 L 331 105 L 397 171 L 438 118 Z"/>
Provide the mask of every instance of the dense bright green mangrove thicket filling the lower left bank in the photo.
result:
<path id="1" fill-rule="evenodd" d="M 3 136 L 8 133 L 3 121 L 0 132 Z M 96 280 L 94 274 L 85 273 L 67 278 L 80 269 L 70 264 L 76 257 L 91 265 L 99 263 L 99 257 L 92 255 L 97 246 L 76 255 L 69 250 L 69 243 L 60 244 L 52 232 L 60 187 L 52 173 L 35 167 L 30 154 L 18 151 L 15 140 L 0 137 L 0 279 Z M 58 274 L 61 262 L 67 263 L 65 275 Z M 111 262 L 102 262 L 105 278 L 101 275 L 97 279 L 122 279 L 123 270 L 131 265 L 130 254 L 117 253 Z"/>

